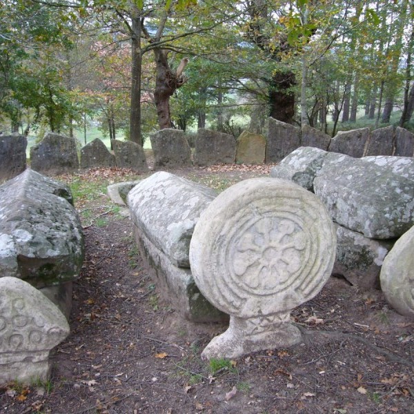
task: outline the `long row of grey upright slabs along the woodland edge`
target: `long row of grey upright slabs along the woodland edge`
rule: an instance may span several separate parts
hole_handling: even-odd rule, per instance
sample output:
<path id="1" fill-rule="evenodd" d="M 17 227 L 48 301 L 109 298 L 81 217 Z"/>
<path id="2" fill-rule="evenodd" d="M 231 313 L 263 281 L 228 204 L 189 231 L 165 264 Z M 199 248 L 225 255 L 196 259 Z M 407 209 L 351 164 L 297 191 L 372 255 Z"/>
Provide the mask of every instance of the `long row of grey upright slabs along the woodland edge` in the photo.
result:
<path id="1" fill-rule="evenodd" d="M 193 165 L 191 150 L 184 131 L 165 129 L 150 135 L 155 169 Z M 62 174 L 79 168 L 77 144 L 73 138 L 48 133 L 30 148 L 31 168 L 44 174 Z M 338 132 L 333 139 L 323 132 L 269 118 L 267 139 L 242 132 L 233 135 L 200 128 L 195 137 L 194 164 L 262 164 L 278 162 L 300 146 L 312 146 L 351 157 L 397 155 L 413 157 L 414 135 L 404 128 L 388 126 L 374 131 L 369 128 Z M 0 136 L 0 179 L 12 178 L 26 169 L 27 139 L 21 135 Z M 132 168 L 148 170 L 144 150 L 131 141 L 112 140 L 112 154 L 100 139 L 81 148 L 81 168 Z"/>

